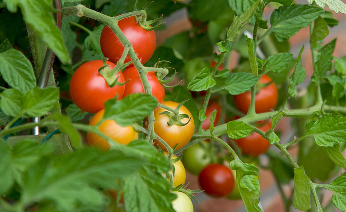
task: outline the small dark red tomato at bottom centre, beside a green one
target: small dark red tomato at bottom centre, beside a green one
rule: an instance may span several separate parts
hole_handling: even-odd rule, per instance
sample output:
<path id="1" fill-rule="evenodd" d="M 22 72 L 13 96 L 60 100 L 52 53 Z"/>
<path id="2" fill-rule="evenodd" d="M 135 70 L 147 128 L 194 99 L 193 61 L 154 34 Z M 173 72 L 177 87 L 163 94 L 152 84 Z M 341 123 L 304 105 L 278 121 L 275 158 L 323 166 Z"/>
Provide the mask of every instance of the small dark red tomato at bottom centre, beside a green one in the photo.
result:
<path id="1" fill-rule="evenodd" d="M 220 164 L 210 164 L 199 174 L 198 181 L 202 190 L 215 197 L 229 195 L 234 187 L 232 170 Z"/>

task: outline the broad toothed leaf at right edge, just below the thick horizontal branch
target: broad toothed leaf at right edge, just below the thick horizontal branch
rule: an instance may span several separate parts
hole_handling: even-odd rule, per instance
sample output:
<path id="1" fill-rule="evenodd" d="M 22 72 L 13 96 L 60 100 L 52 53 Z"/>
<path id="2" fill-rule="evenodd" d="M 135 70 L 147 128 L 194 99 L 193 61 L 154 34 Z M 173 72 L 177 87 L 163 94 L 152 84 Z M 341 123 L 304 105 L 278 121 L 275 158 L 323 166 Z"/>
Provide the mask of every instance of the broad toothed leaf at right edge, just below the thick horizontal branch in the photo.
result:
<path id="1" fill-rule="evenodd" d="M 346 137 L 346 118 L 326 114 L 317 121 L 311 121 L 304 136 L 314 137 L 319 146 L 342 144 Z"/>

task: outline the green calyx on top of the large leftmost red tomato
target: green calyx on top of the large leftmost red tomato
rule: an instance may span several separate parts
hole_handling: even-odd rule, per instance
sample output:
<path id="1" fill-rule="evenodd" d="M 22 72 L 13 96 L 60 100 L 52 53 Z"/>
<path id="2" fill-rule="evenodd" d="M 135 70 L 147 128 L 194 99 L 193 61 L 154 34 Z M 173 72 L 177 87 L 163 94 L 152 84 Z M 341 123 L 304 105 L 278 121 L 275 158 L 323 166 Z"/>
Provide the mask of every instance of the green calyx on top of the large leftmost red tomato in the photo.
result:
<path id="1" fill-rule="evenodd" d="M 116 65 L 114 69 L 110 69 L 109 65 L 106 64 L 106 59 L 103 59 L 103 66 L 98 69 L 98 72 L 100 73 L 100 75 L 102 75 L 102 77 L 106 80 L 107 84 L 110 87 L 114 87 L 115 85 L 122 86 L 127 82 L 119 83 L 118 79 L 120 75 L 117 76 L 117 74 L 121 72 L 122 69 L 126 68 L 130 63 L 131 62 L 128 62 L 120 66 Z"/>

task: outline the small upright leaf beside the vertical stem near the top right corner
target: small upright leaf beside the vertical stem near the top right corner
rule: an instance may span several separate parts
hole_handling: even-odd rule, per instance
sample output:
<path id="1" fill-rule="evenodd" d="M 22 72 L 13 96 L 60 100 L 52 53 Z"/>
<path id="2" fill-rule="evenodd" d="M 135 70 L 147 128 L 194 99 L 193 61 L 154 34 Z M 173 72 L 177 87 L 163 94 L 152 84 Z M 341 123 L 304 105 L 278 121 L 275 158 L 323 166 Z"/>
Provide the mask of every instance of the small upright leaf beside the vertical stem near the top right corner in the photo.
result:
<path id="1" fill-rule="evenodd" d="M 311 38 L 310 38 L 310 43 L 311 49 L 316 49 L 317 48 L 317 42 L 323 40 L 327 35 L 329 34 L 329 29 L 327 22 L 319 16 L 315 20 L 315 24 L 313 26 Z"/>

